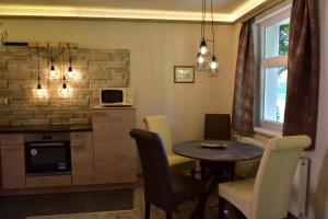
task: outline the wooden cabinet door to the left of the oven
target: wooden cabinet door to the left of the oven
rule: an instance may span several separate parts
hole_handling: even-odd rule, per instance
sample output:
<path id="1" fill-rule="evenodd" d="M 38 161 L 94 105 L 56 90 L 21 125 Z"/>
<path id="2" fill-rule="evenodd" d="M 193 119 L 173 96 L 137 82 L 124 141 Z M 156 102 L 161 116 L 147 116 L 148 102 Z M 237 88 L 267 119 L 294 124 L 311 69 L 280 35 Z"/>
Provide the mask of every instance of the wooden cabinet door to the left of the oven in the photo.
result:
<path id="1" fill-rule="evenodd" d="M 25 187 L 24 145 L 1 146 L 3 188 Z"/>

